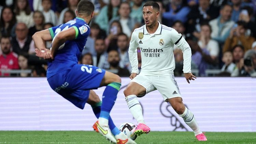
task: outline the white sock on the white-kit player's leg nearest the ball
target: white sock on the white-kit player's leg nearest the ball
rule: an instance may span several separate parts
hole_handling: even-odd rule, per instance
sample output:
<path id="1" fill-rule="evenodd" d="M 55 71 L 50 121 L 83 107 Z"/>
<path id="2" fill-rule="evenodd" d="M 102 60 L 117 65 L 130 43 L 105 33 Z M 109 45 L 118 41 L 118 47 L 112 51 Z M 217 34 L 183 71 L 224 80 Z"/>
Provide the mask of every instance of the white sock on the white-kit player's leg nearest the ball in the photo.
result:
<path id="1" fill-rule="evenodd" d="M 140 102 L 137 99 L 136 95 L 129 95 L 125 97 L 126 103 L 131 111 L 132 116 L 137 120 L 138 124 L 145 124 L 144 118 L 142 115 L 142 108 Z"/>

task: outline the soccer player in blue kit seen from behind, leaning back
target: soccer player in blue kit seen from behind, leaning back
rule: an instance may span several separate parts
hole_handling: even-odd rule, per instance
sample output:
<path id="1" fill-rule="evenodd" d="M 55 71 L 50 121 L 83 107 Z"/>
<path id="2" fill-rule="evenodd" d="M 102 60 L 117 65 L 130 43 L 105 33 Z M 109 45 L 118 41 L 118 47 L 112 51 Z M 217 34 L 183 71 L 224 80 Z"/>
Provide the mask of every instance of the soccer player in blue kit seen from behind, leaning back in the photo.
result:
<path id="1" fill-rule="evenodd" d="M 77 64 L 90 34 L 88 23 L 94 16 L 94 5 L 81 0 L 77 5 L 77 17 L 65 24 L 42 30 L 32 38 L 38 57 L 48 61 L 47 81 L 51 88 L 76 107 L 83 109 L 89 103 L 98 118 L 93 128 L 113 143 L 135 143 L 114 125 L 110 111 L 121 86 L 118 75 L 92 65 Z M 45 42 L 52 41 L 46 49 Z M 102 102 L 92 89 L 106 86 Z M 102 105 L 101 105 L 102 104 Z M 113 135 L 114 136 L 113 136 Z"/>

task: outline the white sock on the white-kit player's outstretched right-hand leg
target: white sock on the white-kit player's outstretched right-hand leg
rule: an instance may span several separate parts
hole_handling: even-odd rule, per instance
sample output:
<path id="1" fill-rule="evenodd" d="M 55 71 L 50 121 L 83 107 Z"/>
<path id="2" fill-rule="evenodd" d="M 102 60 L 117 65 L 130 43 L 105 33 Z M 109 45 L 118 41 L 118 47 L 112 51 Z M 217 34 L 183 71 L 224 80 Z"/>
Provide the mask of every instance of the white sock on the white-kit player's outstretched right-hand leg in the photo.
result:
<path id="1" fill-rule="evenodd" d="M 195 136 L 202 133 L 194 114 L 189 109 L 185 107 L 184 113 L 179 116 L 181 116 L 184 119 L 184 122 L 194 131 Z"/>

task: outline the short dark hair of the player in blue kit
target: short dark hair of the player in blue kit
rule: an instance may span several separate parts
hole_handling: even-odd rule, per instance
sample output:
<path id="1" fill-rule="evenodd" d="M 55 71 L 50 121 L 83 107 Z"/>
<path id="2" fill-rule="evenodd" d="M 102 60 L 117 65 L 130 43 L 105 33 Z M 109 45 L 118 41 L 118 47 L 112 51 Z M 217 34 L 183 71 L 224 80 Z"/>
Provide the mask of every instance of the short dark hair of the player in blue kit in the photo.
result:
<path id="1" fill-rule="evenodd" d="M 94 5 L 91 1 L 89 0 L 81 0 L 78 4 L 77 4 L 77 12 L 83 13 L 86 16 L 89 16 L 91 13 L 93 13 L 94 11 Z"/>

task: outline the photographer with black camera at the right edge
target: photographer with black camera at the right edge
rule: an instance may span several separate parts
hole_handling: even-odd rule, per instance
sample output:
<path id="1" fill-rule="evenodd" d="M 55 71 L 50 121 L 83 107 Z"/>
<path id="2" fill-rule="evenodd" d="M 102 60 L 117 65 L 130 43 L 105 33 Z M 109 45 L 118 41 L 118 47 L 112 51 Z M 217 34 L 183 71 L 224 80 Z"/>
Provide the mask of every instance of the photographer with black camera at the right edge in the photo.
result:
<path id="1" fill-rule="evenodd" d="M 241 69 L 236 68 L 231 76 L 256 77 L 256 51 L 252 49 L 246 51 L 240 65 Z"/>

